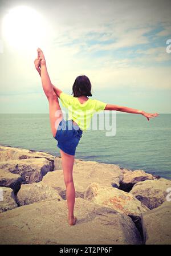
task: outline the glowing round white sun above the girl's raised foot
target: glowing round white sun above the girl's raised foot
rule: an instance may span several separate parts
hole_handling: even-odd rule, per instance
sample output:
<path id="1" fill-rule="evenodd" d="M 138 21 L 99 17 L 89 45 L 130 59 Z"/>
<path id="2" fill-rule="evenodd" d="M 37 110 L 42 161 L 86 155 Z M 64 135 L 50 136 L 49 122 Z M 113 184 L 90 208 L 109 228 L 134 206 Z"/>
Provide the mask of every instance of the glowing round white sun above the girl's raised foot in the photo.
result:
<path id="1" fill-rule="evenodd" d="M 47 39 L 48 31 L 42 15 L 27 6 L 9 10 L 2 21 L 3 39 L 18 50 L 40 47 Z"/>

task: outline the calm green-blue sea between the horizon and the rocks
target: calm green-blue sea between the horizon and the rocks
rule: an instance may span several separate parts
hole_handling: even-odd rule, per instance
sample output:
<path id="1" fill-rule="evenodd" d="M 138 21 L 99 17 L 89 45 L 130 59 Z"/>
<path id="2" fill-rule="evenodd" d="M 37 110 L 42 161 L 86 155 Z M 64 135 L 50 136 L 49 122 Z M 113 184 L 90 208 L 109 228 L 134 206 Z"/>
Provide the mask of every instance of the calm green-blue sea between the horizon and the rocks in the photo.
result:
<path id="1" fill-rule="evenodd" d="M 85 131 L 76 158 L 118 164 L 171 178 L 171 114 L 147 121 L 141 115 L 118 114 L 116 135 Z M 59 155 L 48 114 L 1 114 L 0 144 Z"/>

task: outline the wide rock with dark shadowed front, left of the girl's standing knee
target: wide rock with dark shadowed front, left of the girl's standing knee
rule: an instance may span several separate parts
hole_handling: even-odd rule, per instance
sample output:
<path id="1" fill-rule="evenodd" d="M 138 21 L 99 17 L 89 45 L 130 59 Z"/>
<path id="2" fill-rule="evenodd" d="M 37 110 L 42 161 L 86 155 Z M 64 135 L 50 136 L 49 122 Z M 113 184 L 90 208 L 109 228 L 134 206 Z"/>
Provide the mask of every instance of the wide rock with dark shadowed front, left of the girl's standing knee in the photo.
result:
<path id="1" fill-rule="evenodd" d="M 0 162 L 0 168 L 21 175 L 22 184 L 39 182 L 53 170 L 52 162 L 43 158 L 4 161 Z"/>

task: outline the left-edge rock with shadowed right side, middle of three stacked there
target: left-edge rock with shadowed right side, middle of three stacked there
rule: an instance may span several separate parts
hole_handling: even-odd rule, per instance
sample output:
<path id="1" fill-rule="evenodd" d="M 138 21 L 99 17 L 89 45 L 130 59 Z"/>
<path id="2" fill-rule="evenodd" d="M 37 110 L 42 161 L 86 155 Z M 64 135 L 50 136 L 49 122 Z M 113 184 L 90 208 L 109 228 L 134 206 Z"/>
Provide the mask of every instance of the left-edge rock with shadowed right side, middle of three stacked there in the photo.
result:
<path id="1" fill-rule="evenodd" d="M 21 187 L 22 178 L 19 174 L 10 173 L 7 170 L 0 169 L 0 186 L 6 186 L 18 192 Z"/>

